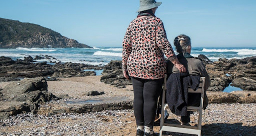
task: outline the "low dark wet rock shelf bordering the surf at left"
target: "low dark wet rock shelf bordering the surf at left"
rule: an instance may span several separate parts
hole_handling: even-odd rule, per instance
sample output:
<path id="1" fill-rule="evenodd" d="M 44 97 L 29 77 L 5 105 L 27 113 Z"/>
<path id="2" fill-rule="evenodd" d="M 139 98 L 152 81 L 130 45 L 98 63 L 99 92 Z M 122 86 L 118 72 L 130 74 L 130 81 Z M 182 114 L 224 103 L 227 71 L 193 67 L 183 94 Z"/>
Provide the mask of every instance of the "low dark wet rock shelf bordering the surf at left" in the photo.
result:
<path id="1" fill-rule="evenodd" d="M 18 81 L 20 78 L 28 77 L 84 77 L 96 75 L 94 71 L 83 71 L 84 69 L 103 69 L 103 67 L 86 65 L 81 63 L 61 63 L 60 61 L 35 63 L 36 59 L 55 59 L 48 55 L 39 55 L 36 58 L 31 56 L 22 59 L 12 60 L 10 57 L 0 57 L 0 82 Z M 33 63 L 34 62 L 34 63 Z"/>

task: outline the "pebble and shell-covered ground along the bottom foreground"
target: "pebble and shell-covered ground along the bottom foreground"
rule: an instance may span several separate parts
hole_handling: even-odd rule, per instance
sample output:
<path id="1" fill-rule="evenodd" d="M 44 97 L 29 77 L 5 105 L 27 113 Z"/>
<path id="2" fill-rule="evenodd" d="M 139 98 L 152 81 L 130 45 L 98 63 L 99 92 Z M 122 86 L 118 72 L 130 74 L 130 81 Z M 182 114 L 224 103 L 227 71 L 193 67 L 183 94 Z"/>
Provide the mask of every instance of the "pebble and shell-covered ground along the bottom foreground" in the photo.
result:
<path id="1" fill-rule="evenodd" d="M 256 126 L 256 104 L 209 104 L 203 112 L 203 124 L 235 124 Z M 197 115 L 194 112 L 193 115 Z M 170 116 L 169 116 L 170 117 Z M 179 117 L 177 117 L 179 118 Z M 195 118 L 192 122 L 197 122 Z M 133 110 L 105 110 L 88 113 L 18 114 L 0 120 L 4 136 L 127 136 L 127 128 L 136 128 Z M 228 126 L 230 127 L 230 126 Z M 210 128 L 209 128 L 210 129 Z M 232 129 L 232 127 L 230 128 Z M 242 128 L 240 128 L 242 129 Z M 228 129 L 227 129 L 228 130 Z M 242 129 L 239 131 L 245 131 Z M 219 131 L 219 132 L 218 132 Z M 216 134 L 227 134 L 218 130 Z M 256 131 L 256 130 L 254 130 Z M 114 133 L 115 132 L 115 133 Z M 126 131 L 126 133 L 128 133 Z M 255 132 L 256 133 L 256 132 Z M 183 135 L 182 135 L 183 136 Z M 240 134 L 239 134 L 240 136 Z M 241 135 L 242 136 L 242 135 Z"/>

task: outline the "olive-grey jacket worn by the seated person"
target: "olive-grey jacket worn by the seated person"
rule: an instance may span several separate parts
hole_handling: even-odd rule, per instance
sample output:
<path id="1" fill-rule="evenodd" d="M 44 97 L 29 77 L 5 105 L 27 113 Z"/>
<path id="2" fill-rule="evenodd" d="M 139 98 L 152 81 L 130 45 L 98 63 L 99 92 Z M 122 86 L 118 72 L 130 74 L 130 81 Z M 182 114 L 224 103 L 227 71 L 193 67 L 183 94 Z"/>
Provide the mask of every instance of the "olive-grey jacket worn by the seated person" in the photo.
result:
<path id="1" fill-rule="evenodd" d="M 195 59 L 189 53 L 185 53 L 184 55 L 179 54 L 177 55 L 177 58 L 180 61 L 180 63 L 182 63 L 182 65 L 186 67 L 187 74 L 189 74 L 190 76 L 205 77 L 205 86 L 204 86 L 205 95 L 204 95 L 204 105 L 203 105 L 203 108 L 205 109 L 208 104 L 206 90 L 210 86 L 210 77 L 205 69 L 204 63 L 202 63 L 200 59 Z M 171 73 L 180 73 L 180 71 L 170 61 L 167 61 L 167 73 L 168 75 L 170 75 Z M 166 86 L 167 85 L 168 84 L 166 83 Z M 200 97 L 201 97 L 200 94 L 190 93 L 188 96 L 188 106 L 200 106 Z"/>

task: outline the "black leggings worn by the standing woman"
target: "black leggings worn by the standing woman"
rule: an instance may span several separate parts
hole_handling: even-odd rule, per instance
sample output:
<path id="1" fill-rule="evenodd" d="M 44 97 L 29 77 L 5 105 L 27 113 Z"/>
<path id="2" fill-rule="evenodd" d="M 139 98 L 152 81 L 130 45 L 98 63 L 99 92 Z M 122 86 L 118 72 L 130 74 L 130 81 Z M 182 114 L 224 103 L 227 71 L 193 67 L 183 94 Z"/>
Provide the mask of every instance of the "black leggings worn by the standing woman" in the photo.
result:
<path id="1" fill-rule="evenodd" d="M 132 77 L 134 91 L 134 115 L 138 126 L 153 128 L 158 97 L 162 91 L 164 78 L 140 79 Z"/>

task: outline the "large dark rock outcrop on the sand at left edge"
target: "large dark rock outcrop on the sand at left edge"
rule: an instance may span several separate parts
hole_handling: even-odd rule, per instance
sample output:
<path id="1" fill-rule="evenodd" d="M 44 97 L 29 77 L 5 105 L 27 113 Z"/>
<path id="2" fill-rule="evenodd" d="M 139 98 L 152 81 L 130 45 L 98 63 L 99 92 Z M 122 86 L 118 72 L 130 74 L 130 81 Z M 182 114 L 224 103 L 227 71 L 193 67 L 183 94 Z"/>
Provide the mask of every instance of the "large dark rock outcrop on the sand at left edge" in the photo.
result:
<path id="1" fill-rule="evenodd" d="M 46 79 L 14 81 L 0 91 L 0 119 L 20 113 L 36 113 L 40 103 L 58 99 L 47 91 Z"/>

